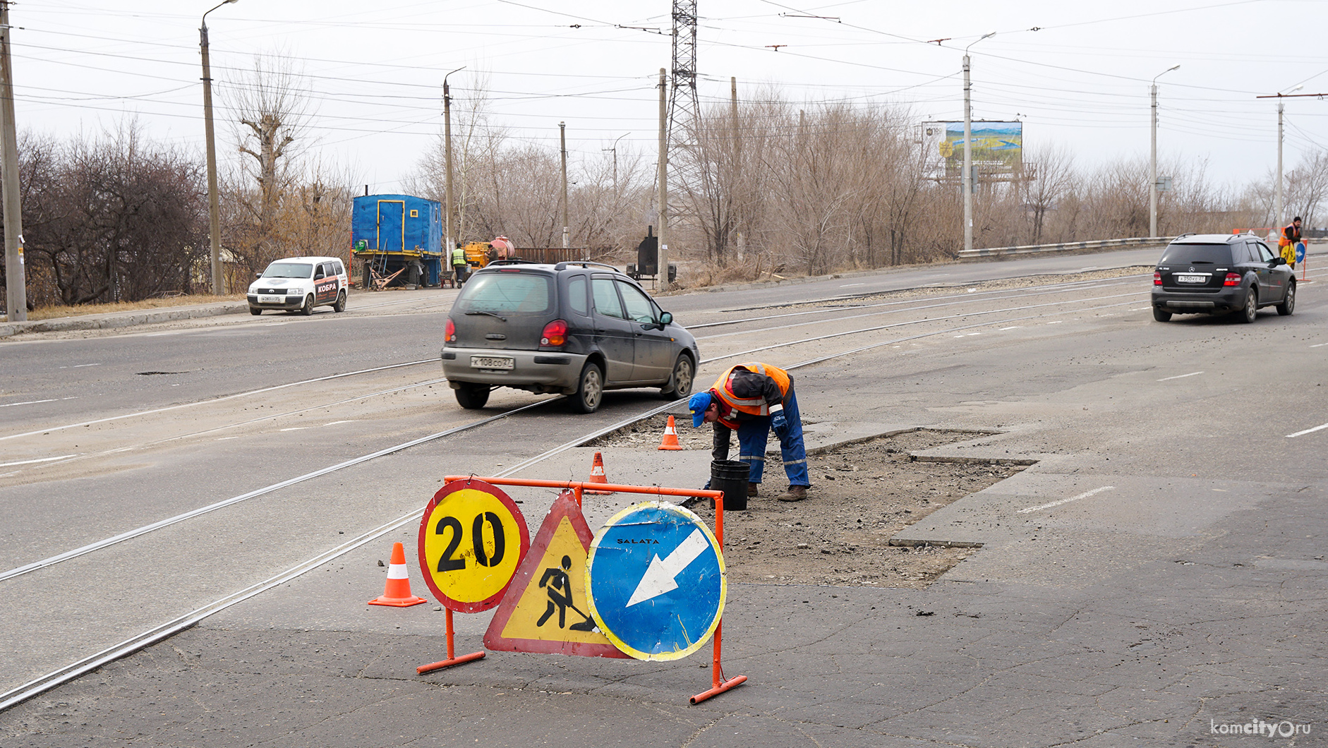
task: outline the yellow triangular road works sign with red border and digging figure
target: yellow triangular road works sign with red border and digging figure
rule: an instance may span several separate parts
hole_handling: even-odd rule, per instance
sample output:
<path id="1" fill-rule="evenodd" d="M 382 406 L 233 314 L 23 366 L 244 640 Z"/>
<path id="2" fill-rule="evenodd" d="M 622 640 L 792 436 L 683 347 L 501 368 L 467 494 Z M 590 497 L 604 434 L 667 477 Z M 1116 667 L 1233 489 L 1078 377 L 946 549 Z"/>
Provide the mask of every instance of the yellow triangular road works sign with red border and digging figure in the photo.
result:
<path id="1" fill-rule="evenodd" d="M 485 632 L 485 647 L 509 652 L 627 658 L 595 626 L 586 598 L 586 555 L 594 534 L 572 492 L 554 500 L 507 594 Z"/>

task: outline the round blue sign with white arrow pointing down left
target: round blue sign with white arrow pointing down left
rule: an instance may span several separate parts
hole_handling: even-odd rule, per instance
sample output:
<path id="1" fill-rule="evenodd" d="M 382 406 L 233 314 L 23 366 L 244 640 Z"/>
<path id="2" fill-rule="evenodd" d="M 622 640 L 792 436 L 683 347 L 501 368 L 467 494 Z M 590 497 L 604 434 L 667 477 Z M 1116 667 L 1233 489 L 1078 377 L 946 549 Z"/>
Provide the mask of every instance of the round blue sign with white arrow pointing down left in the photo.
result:
<path id="1" fill-rule="evenodd" d="M 701 648 L 724 614 L 724 554 L 687 509 L 648 501 L 615 514 L 586 562 L 591 616 L 619 650 L 675 660 Z"/>

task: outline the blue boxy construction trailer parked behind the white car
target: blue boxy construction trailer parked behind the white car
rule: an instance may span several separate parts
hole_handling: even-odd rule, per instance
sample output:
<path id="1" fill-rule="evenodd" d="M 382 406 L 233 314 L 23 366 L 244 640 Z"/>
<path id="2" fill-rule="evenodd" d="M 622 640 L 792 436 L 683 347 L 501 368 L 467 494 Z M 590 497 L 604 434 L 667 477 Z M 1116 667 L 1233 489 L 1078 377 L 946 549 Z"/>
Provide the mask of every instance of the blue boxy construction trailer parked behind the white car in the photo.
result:
<path id="1" fill-rule="evenodd" d="M 438 286 L 444 272 L 442 203 L 414 195 L 357 197 L 351 211 L 351 248 L 363 267 L 361 288 Z"/>

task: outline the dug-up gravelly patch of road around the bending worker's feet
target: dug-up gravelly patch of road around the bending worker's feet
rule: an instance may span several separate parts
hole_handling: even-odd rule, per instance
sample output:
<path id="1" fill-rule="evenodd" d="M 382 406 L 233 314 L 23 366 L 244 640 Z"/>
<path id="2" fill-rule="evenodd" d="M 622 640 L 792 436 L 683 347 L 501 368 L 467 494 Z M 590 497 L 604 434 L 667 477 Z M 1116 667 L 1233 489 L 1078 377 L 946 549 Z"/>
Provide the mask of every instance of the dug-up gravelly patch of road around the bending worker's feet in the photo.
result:
<path id="1" fill-rule="evenodd" d="M 665 416 L 606 434 L 586 446 L 655 448 Z M 691 424 L 688 424 L 689 426 Z M 709 429 L 680 428 L 688 449 L 709 449 Z M 846 444 L 807 457 L 811 490 L 799 502 L 782 493 L 778 457 L 766 462 L 761 496 L 724 513 L 730 581 L 923 589 L 976 547 L 892 546 L 891 535 L 932 512 L 1023 470 L 1025 465 L 923 461 L 911 452 L 988 436 L 922 429 Z M 691 444 L 688 444 L 691 442 Z M 713 525 L 705 502 L 692 508 Z"/>

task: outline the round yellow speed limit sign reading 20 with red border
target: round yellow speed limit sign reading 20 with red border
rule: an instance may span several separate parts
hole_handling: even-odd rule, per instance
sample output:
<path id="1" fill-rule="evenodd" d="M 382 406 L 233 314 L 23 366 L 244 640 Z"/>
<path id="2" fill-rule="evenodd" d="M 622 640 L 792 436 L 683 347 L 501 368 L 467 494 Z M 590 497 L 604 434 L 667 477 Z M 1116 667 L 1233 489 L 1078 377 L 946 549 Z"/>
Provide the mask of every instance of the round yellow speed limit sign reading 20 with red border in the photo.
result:
<path id="1" fill-rule="evenodd" d="M 527 550 L 526 518 L 497 486 L 453 481 L 424 508 L 420 570 L 449 610 L 479 612 L 498 605 Z"/>

